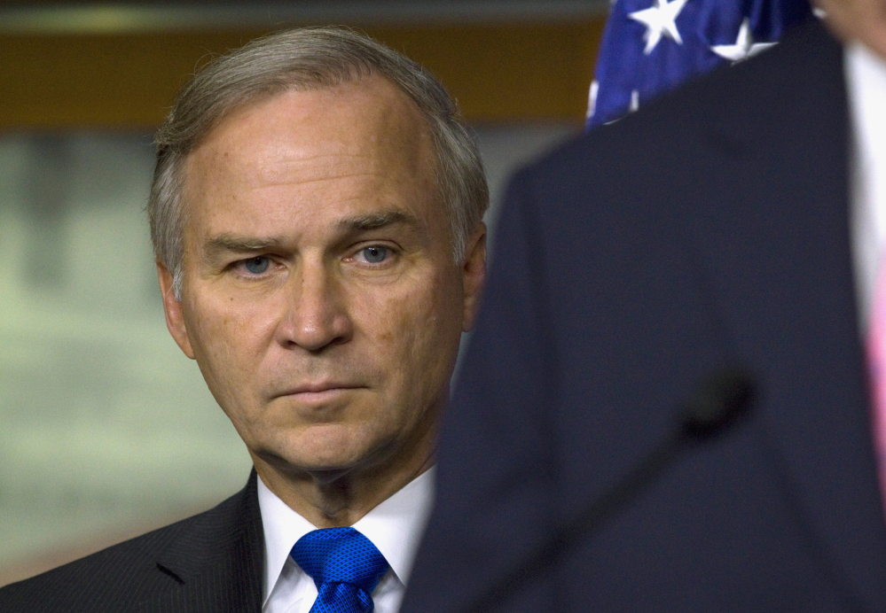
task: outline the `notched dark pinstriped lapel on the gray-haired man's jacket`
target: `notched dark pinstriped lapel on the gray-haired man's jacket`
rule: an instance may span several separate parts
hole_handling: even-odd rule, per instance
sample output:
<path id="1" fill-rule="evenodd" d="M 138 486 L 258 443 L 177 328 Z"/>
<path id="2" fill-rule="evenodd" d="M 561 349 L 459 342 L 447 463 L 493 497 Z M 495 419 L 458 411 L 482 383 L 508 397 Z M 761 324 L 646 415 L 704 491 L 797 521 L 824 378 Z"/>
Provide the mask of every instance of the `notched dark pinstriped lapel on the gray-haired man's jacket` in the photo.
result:
<path id="1" fill-rule="evenodd" d="M 193 518 L 158 557 L 157 570 L 179 586 L 145 602 L 145 611 L 262 609 L 264 535 L 255 470 L 247 486 Z"/>

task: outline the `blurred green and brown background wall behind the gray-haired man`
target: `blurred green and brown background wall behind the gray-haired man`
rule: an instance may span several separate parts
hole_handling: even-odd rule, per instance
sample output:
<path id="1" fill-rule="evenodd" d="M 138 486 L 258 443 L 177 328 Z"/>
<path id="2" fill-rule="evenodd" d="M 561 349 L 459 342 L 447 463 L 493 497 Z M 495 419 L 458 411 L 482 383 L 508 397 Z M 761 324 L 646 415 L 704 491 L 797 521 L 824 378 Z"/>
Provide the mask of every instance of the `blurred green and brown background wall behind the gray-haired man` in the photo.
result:
<path id="1" fill-rule="evenodd" d="M 246 481 L 245 448 L 165 328 L 144 213 L 151 134 L 188 75 L 280 27 L 364 30 L 459 100 L 494 229 L 507 176 L 581 129 L 606 10 L 0 4 L 0 585 L 209 508 Z"/>

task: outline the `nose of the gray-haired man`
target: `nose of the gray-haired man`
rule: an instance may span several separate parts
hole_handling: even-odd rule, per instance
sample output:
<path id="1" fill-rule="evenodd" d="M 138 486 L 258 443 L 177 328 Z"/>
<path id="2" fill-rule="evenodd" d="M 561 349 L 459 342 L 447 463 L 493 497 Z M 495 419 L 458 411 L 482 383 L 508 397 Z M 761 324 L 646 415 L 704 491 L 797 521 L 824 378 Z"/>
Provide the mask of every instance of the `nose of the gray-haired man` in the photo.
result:
<path id="1" fill-rule="evenodd" d="M 347 297 L 322 262 L 303 262 L 287 284 L 277 338 L 288 349 L 320 352 L 353 335 Z"/>

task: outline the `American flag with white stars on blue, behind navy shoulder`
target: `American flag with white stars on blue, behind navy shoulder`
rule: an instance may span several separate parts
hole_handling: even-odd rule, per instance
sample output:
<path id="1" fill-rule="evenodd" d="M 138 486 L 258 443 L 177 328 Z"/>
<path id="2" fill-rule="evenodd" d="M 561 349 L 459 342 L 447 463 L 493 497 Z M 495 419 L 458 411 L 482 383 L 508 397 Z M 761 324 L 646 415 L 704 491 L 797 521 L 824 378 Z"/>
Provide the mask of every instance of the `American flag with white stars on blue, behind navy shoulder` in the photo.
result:
<path id="1" fill-rule="evenodd" d="M 808 0 L 615 0 L 586 128 L 636 111 L 688 77 L 771 47 L 811 13 Z"/>

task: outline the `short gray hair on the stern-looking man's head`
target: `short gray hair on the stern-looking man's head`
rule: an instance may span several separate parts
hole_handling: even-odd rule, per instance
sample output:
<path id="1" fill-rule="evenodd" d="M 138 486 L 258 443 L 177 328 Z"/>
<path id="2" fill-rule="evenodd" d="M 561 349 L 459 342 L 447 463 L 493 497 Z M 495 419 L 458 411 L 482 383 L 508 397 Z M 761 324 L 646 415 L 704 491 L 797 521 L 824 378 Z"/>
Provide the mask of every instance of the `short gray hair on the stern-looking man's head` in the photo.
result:
<path id="1" fill-rule="evenodd" d="M 179 93 L 158 130 L 148 217 L 157 260 L 181 299 L 184 260 L 184 162 L 223 118 L 243 105 L 291 90 L 322 89 L 379 74 L 412 98 L 427 121 L 436 182 L 451 224 L 453 257 L 489 206 L 489 188 L 474 138 L 443 85 L 422 66 L 366 35 L 342 27 L 308 27 L 267 35 L 216 58 Z"/>

